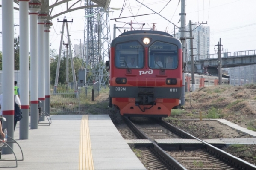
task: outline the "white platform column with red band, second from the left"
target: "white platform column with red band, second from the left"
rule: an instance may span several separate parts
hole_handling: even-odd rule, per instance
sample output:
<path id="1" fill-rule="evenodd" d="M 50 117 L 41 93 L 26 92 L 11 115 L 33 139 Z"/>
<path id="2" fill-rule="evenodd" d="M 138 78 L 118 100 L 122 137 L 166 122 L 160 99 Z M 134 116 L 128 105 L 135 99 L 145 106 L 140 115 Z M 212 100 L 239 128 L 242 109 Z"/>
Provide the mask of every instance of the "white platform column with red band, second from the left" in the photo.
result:
<path id="1" fill-rule="evenodd" d="M 20 14 L 20 139 L 29 138 L 29 1 L 19 1 Z"/>

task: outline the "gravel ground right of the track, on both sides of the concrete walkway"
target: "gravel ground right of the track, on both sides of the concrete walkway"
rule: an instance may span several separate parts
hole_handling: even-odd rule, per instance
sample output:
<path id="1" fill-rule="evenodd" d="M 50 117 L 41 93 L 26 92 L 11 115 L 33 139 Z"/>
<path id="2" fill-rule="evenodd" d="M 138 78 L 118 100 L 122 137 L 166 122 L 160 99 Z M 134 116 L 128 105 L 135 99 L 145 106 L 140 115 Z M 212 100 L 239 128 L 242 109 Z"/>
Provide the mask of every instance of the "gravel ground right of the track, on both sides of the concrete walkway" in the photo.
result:
<path id="1" fill-rule="evenodd" d="M 227 125 L 217 121 L 184 121 L 166 120 L 168 123 L 196 136 L 200 139 L 209 138 L 251 138 L 249 135 L 239 133 Z M 227 153 L 243 159 L 251 164 L 256 164 L 256 144 L 242 145 L 234 144 L 222 148 Z"/>

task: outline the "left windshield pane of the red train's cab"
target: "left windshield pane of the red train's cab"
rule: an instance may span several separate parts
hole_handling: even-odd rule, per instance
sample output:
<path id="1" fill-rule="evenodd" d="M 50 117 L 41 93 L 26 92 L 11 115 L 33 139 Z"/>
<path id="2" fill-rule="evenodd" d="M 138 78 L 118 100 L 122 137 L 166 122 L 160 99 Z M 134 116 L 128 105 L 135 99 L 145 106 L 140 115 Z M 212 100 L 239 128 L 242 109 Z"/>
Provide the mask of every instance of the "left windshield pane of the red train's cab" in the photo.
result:
<path id="1" fill-rule="evenodd" d="M 118 43 L 115 46 L 115 66 L 117 68 L 143 68 L 144 47 L 138 41 Z"/>

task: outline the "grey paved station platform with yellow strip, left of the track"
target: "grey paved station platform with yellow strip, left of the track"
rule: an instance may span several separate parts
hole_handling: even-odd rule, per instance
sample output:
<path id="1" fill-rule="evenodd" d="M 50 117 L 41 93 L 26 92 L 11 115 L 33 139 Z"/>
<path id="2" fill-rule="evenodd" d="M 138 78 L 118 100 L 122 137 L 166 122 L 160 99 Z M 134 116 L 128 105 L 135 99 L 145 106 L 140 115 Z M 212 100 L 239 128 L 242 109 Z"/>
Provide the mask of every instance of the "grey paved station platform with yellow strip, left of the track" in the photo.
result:
<path id="1" fill-rule="evenodd" d="M 18 170 L 146 170 L 122 138 L 109 115 L 52 115 L 52 124 L 29 129 L 29 139 L 19 140 L 19 124 L 14 139 L 20 144 L 24 161 Z M 21 152 L 14 144 L 17 158 Z M 1 160 L 13 159 L 12 154 Z M 0 167 L 15 161 L 1 161 Z M 4 168 L 12 169 L 13 168 Z"/>

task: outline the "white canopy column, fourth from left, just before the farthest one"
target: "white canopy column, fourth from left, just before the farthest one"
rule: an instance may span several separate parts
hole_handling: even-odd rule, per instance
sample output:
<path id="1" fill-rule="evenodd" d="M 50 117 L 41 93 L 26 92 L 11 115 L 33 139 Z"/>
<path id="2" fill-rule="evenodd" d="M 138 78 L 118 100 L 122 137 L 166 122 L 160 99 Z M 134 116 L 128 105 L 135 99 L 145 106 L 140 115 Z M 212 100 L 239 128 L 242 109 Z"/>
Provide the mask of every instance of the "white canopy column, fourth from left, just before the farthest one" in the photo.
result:
<path id="1" fill-rule="evenodd" d="M 45 111 L 45 77 L 44 77 L 44 21 L 46 20 L 47 14 L 39 12 L 38 15 L 38 100 L 41 101 L 39 104 L 42 110 Z M 39 121 L 44 121 L 45 116 L 41 115 Z"/>

